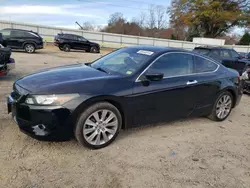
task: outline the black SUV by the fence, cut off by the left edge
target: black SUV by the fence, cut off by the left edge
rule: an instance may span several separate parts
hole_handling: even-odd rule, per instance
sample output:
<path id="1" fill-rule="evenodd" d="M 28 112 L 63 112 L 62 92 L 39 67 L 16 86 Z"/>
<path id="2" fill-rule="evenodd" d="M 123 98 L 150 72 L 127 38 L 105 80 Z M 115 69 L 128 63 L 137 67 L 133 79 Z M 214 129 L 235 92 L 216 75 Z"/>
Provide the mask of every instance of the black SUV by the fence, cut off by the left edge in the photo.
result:
<path id="1" fill-rule="evenodd" d="M 21 29 L 0 30 L 3 35 L 3 46 L 12 49 L 24 49 L 28 53 L 34 53 L 36 49 L 43 48 L 42 37 L 33 31 Z"/>

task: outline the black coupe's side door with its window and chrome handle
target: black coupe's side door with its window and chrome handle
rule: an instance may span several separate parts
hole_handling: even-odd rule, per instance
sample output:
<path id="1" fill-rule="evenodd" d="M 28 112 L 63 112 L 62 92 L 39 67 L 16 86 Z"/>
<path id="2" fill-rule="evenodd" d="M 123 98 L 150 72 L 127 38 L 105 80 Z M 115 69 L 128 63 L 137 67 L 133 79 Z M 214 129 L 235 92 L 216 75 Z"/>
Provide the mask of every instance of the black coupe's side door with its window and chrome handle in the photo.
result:
<path id="1" fill-rule="evenodd" d="M 189 116 L 195 107 L 197 80 L 193 56 L 169 52 L 156 60 L 134 84 L 134 123 L 156 123 Z M 143 81 L 147 74 L 163 73 L 159 81 Z"/>

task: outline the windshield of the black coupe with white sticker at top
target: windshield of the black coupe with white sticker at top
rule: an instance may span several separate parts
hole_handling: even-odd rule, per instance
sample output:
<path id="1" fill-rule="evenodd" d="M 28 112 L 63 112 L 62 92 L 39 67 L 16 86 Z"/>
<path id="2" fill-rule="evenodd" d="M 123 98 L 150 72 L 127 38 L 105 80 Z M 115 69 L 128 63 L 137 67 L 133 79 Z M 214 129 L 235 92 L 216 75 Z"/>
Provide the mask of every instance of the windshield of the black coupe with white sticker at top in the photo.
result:
<path id="1" fill-rule="evenodd" d="M 112 52 L 91 64 L 91 67 L 107 73 L 132 75 L 154 54 L 148 50 L 123 48 Z"/>

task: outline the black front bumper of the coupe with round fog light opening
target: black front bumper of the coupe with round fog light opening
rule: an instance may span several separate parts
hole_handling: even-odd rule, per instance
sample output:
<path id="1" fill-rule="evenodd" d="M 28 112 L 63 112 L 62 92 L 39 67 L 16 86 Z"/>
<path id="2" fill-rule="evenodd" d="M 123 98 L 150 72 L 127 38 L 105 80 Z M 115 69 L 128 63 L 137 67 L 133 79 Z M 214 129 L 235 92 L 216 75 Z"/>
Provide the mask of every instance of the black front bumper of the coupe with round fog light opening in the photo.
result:
<path id="1" fill-rule="evenodd" d="M 25 134 L 44 141 L 66 141 L 73 136 L 70 110 L 62 106 L 34 106 L 7 98 L 8 113 Z"/>

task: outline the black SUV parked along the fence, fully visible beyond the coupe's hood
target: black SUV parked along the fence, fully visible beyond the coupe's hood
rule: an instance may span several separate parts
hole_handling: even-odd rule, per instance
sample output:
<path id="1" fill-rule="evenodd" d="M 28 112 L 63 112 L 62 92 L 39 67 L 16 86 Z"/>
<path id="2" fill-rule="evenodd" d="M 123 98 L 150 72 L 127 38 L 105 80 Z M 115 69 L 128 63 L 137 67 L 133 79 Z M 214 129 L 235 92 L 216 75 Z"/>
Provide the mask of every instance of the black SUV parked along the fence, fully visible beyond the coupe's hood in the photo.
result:
<path id="1" fill-rule="evenodd" d="M 100 45 L 90 42 L 82 36 L 73 34 L 57 34 L 55 36 L 54 44 L 60 50 L 69 52 L 70 49 L 85 50 L 86 52 L 99 53 Z"/>

